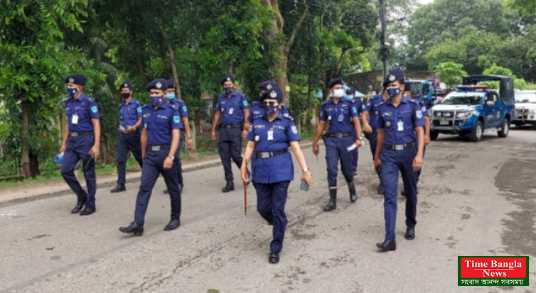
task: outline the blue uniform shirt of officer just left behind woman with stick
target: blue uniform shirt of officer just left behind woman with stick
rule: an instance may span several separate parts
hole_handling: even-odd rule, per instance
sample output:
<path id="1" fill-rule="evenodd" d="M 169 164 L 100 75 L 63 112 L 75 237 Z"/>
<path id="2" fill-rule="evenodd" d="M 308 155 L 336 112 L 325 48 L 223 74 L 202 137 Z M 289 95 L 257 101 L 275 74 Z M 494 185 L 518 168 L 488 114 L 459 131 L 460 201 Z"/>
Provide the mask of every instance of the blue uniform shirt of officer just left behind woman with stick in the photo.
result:
<path id="1" fill-rule="evenodd" d="M 227 97 L 225 94 L 218 96 L 216 111 L 221 111 L 221 123 L 223 125 L 235 125 L 244 121 L 244 109 L 247 108 L 246 96 L 240 92 L 232 92 Z"/>

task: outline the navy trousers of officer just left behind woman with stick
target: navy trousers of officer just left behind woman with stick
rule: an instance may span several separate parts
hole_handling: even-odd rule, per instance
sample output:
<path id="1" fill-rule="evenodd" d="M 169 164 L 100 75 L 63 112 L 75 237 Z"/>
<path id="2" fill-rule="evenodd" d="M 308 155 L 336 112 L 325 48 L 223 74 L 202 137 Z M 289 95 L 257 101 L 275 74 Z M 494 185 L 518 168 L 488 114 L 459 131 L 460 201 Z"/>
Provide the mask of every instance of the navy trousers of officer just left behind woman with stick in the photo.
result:
<path id="1" fill-rule="evenodd" d="M 232 181 L 231 159 L 238 169 L 242 167 L 242 130 L 240 128 L 221 128 L 218 150 L 225 171 L 225 180 Z"/>

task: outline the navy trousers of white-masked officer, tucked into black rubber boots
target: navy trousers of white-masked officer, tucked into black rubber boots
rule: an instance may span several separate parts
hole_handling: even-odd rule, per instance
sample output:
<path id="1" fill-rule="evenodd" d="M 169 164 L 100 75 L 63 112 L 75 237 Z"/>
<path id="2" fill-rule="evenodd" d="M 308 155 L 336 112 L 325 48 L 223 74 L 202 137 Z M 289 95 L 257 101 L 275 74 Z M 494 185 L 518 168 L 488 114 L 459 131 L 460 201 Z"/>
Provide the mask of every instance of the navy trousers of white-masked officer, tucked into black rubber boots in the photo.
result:
<path id="1" fill-rule="evenodd" d="M 344 138 L 326 137 L 326 165 L 328 167 L 328 182 L 337 182 L 338 161 L 341 160 L 341 171 L 346 182 L 353 181 L 352 152 L 346 148 L 355 143 L 352 136 Z"/>

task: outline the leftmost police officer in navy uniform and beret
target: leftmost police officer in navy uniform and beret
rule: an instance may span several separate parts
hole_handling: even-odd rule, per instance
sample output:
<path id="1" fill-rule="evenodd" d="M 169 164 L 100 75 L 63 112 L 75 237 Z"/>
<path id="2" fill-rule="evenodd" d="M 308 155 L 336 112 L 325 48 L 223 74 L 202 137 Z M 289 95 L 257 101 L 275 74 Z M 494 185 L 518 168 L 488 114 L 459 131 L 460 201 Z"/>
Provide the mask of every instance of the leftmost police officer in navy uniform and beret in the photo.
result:
<path id="1" fill-rule="evenodd" d="M 63 102 L 67 125 L 60 148 L 60 153 L 64 153 L 61 175 L 77 197 L 77 204 L 71 214 L 81 211 L 80 216 L 90 215 L 96 211 L 95 160 L 99 157 L 100 148 L 99 106 L 94 99 L 84 94 L 86 81 L 82 74 L 65 77 L 70 98 Z M 80 160 L 84 167 L 87 192 L 82 189 L 75 176 L 75 166 Z"/>

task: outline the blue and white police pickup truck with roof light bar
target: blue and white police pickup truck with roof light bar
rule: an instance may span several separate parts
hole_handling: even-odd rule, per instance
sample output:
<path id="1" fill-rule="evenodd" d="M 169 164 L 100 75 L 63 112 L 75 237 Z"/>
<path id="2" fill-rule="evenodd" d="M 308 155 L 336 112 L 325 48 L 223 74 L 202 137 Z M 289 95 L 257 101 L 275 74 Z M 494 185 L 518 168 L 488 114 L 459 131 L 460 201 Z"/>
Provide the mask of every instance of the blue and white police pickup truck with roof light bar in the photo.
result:
<path id="1" fill-rule="evenodd" d="M 478 82 L 499 82 L 499 91 Z M 463 85 L 432 106 L 430 138 L 439 133 L 469 136 L 482 140 L 484 132 L 497 131 L 508 136 L 514 113 L 513 79 L 501 75 L 473 75 L 463 78 Z"/>

